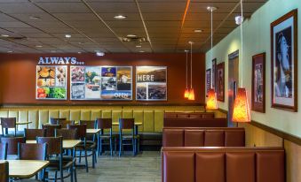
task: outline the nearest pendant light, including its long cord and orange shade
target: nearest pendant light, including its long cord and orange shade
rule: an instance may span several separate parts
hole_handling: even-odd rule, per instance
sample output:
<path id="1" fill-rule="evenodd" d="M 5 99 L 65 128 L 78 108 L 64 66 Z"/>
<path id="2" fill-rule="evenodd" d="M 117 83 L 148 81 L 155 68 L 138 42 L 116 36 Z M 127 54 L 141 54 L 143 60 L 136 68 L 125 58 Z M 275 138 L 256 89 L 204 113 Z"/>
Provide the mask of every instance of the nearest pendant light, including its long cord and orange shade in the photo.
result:
<path id="1" fill-rule="evenodd" d="M 242 0 L 241 0 L 241 11 L 242 11 Z M 243 11 L 242 11 L 242 17 L 241 17 L 241 43 L 242 43 L 242 59 L 243 59 L 243 36 L 242 36 L 242 22 L 243 22 Z M 243 65 L 243 60 L 242 65 Z M 242 66 L 243 69 L 243 66 Z M 233 122 L 250 122 L 250 108 L 249 108 L 249 102 L 248 102 L 248 95 L 247 90 L 245 87 L 239 87 L 237 90 L 237 95 L 235 97 L 234 101 L 234 111 L 233 111 Z"/>

